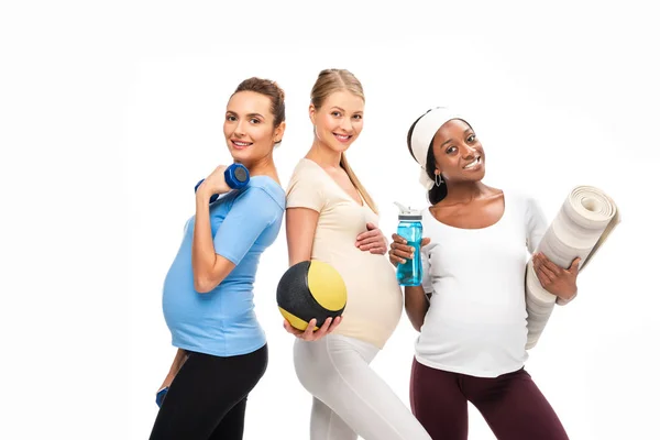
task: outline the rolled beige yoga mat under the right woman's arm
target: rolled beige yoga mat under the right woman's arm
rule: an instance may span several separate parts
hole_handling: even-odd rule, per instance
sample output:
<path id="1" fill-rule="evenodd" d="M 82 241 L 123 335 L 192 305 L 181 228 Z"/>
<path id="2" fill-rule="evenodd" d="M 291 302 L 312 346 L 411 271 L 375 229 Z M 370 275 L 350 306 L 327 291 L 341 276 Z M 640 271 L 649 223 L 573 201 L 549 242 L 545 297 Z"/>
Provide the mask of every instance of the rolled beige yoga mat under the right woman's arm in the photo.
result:
<path id="1" fill-rule="evenodd" d="M 593 186 L 578 186 L 569 194 L 535 252 L 542 252 L 552 263 L 564 268 L 580 257 L 579 270 L 582 271 L 619 221 L 618 209 L 609 196 Z M 570 299 L 563 300 L 541 287 L 530 258 L 525 275 L 525 348 L 531 349 L 546 328 L 554 304 L 564 305 Z"/>

